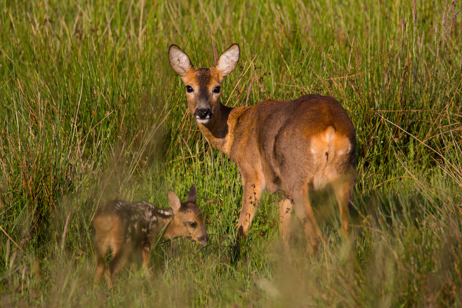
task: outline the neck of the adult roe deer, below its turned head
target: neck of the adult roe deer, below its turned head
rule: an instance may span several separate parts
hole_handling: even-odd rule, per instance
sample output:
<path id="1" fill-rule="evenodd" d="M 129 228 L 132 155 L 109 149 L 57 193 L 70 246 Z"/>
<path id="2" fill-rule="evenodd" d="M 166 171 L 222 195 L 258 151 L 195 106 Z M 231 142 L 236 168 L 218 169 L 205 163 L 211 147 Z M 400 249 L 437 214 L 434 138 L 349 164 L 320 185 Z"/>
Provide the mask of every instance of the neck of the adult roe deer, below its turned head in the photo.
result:
<path id="1" fill-rule="evenodd" d="M 219 103 L 210 121 L 207 124 L 198 123 L 199 128 L 215 149 L 229 155 L 237 121 L 248 108 L 227 107 Z"/>

